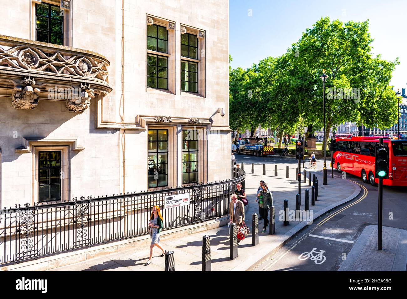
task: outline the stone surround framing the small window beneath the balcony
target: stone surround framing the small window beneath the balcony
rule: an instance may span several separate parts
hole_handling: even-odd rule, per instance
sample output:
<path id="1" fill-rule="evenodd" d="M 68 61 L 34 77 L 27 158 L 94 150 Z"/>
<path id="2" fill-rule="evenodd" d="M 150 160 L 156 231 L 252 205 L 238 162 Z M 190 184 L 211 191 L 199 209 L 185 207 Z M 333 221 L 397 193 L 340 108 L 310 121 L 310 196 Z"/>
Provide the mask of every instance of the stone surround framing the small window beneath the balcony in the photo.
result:
<path id="1" fill-rule="evenodd" d="M 33 154 L 33 194 L 32 194 L 32 202 L 39 202 L 39 183 L 38 183 L 38 159 L 39 159 L 39 151 L 61 151 L 61 201 L 67 201 L 69 199 L 68 194 L 68 180 L 69 180 L 69 159 L 68 159 L 68 145 L 61 145 L 61 146 L 32 146 L 31 153 Z M 43 202 L 45 203 L 45 202 Z"/>

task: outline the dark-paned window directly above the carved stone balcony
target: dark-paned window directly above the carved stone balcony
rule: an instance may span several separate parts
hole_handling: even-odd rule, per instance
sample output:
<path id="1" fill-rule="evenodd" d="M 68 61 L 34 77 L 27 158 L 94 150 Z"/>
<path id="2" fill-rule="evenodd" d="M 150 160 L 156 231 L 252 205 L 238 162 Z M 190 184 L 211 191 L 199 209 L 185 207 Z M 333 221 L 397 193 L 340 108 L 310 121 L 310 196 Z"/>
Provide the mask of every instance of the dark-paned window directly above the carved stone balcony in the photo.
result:
<path id="1" fill-rule="evenodd" d="M 63 45 L 63 13 L 59 6 L 35 4 L 35 40 Z"/>

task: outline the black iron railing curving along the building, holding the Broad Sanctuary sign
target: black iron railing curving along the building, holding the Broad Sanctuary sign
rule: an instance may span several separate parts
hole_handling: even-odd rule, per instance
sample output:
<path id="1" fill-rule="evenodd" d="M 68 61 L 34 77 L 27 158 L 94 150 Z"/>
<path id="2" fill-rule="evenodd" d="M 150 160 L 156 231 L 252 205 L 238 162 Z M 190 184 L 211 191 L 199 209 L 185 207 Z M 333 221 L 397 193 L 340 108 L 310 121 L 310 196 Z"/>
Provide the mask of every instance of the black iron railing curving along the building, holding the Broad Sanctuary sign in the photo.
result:
<path id="1" fill-rule="evenodd" d="M 164 229 L 225 216 L 237 183 L 245 188 L 245 172 L 232 167 L 225 181 L 0 210 L 0 264 L 147 234 L 154 205 L 162 209 Z M 189 205 L 164 209 L 165 196 L 184 193 Z"/>

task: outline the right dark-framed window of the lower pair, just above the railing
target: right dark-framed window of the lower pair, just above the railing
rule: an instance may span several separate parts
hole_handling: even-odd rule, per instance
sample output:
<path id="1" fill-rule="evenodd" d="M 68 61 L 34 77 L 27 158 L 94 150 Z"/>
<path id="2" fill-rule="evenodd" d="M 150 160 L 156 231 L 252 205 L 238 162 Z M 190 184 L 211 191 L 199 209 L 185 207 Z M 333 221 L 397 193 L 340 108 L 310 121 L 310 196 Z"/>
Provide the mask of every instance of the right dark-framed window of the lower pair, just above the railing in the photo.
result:
<path id="1" fill-rule="evenodd" d="M 182 130 L 182 183 L 198 182 L 198 133 Z"/>

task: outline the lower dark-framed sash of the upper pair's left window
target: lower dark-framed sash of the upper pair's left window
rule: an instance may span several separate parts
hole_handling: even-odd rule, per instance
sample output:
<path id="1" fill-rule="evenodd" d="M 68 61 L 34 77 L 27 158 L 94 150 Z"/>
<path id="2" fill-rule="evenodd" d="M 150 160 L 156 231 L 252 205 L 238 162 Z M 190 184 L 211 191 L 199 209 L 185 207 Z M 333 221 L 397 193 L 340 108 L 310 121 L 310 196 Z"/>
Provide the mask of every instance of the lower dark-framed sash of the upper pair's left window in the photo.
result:
<path id="1" fill-rule="evenodd" d="M 147 86 L 168 89 L 168 57 L 147 55 Z"/>

